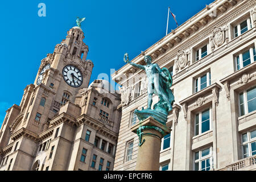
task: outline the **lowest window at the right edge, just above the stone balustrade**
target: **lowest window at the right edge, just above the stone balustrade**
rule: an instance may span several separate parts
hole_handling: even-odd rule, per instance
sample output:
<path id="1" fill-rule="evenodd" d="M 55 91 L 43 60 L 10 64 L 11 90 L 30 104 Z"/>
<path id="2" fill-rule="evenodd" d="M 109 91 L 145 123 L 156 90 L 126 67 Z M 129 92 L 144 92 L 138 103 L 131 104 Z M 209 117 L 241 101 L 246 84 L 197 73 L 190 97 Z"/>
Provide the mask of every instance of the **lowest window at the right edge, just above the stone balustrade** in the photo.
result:
<path id="1" fill-rule="evenodd" d="M 242 134 L 243 158 L 256 154 L 256 130 Z"/>

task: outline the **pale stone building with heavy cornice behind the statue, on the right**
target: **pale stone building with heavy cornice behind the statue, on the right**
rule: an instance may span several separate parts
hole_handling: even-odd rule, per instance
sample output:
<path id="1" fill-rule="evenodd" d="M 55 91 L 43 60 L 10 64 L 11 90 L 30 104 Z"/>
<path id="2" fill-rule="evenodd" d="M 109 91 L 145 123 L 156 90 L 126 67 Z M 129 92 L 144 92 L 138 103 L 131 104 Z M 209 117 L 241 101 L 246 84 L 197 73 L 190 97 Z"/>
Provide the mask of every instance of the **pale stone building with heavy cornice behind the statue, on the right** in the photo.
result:
<path id="1" fill-rule="evenodd" d="M 160 170 L 256 169 L 255 38 L 255 0 L 216 0 L 144 51 L 173 77 Z M 142 55 L 131 61 L 144 64 Z M 122 85 L 114 170 L 134 170 L 138 136 L 130 129 L 134 110 L 147 107 L 145 73 L 126 64 L 112 77 Z"/>

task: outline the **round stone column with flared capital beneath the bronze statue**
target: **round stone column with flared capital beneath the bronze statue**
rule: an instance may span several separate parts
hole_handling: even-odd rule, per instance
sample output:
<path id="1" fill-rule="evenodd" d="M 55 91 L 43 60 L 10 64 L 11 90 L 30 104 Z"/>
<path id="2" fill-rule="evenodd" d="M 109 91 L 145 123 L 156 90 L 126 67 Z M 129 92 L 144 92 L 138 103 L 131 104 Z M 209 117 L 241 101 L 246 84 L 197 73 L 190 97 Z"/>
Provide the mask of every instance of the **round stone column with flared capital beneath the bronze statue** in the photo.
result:
<path id="1" fill-rule="evenodd" d="M 136 171 L 159 171 L 161 139 L 171 132 L 162 123 L 148 117 L 131 127 L 139 136 Z"/>

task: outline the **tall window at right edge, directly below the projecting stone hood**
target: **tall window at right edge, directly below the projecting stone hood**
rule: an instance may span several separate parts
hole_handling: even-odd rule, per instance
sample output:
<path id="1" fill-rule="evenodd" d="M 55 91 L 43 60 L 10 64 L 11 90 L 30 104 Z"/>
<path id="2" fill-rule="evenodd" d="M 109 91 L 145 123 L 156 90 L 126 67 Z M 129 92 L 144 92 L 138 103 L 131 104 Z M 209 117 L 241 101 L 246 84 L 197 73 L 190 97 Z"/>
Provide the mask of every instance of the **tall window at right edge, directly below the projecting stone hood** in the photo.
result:
<path id="1" fill-rule="evenodd" d="M 256 86 L 239 94 L 240 116 L 256 110 Z"/>

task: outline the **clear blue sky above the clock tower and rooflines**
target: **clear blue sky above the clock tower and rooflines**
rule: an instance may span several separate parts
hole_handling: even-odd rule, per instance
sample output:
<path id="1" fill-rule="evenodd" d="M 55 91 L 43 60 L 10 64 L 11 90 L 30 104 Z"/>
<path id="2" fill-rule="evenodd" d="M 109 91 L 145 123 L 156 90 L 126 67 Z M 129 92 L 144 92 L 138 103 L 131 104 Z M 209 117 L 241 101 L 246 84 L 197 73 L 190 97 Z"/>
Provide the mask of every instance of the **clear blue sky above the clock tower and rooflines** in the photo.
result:
<path id="1" fill-rule="evenodd" d="M 38 16 L 38 4 L 46 4 L 46 17 Z M 94 63 L 90 82 L 99 73 L 110 75 L 162 39 L 166 34 L 167 11 L 171 7 L 178 24 L 184 23 L 213 0 L 40 0 L 1 1 L 1 89 L 0 126 L 5 111 L 20 104 L 23 89 L 35 80 L 40 61 L 65 39 L 67 31 L 82 22 L 87 59 Z M 176 28 L 170 16 L 169 31 Z"/>

